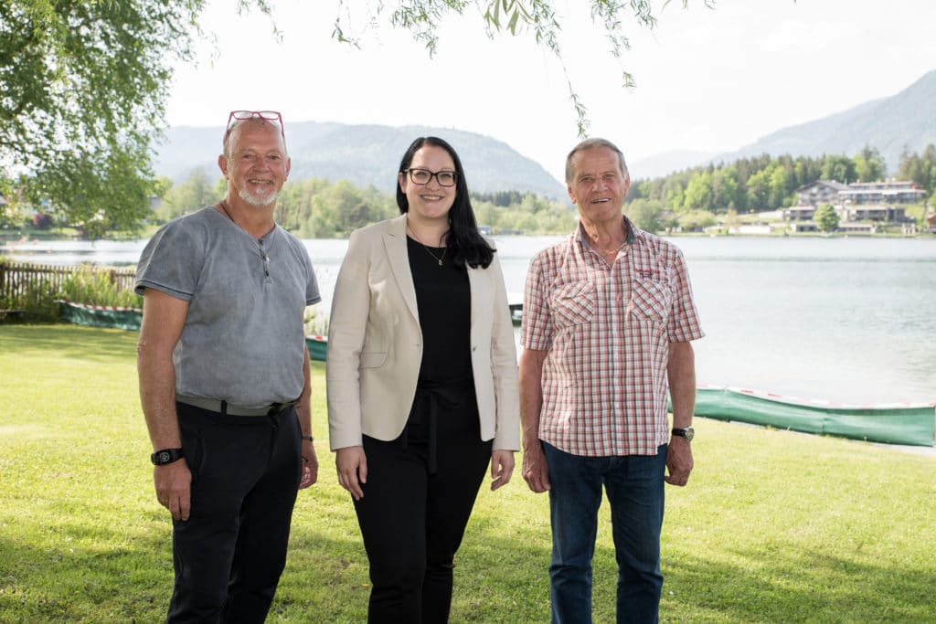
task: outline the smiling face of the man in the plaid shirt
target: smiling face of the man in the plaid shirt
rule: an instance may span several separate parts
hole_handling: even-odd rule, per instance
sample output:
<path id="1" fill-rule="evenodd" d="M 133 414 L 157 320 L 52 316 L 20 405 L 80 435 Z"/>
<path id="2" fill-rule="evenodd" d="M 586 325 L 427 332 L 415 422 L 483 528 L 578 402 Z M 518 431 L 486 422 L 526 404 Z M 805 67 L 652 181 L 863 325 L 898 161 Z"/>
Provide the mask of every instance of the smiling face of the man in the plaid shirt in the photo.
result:
<path id="1" fill-rule="evenodd" d="M 621 219 L 630 176 L 621 170 L 618 154 L 607 147 L 582 150 L 572 157 L 569 198 L 584 221 L 607 223 Z"/>

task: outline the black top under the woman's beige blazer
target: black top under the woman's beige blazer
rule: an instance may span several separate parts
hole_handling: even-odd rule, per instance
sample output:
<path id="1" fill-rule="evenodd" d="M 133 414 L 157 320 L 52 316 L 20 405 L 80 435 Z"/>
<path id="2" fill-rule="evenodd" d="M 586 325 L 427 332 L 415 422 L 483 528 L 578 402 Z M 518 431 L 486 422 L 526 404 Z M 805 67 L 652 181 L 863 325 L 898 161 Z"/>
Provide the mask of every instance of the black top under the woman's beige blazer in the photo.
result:
<path id="1" fill-rule="evenodd" d="M 425 247 L 406 237 L 406 251 L 416 286 L 423 338 L 419 385 L 471 382 L 468 270 L 452 263 L 454 248 L 446 252 L 445 247 Z"/>

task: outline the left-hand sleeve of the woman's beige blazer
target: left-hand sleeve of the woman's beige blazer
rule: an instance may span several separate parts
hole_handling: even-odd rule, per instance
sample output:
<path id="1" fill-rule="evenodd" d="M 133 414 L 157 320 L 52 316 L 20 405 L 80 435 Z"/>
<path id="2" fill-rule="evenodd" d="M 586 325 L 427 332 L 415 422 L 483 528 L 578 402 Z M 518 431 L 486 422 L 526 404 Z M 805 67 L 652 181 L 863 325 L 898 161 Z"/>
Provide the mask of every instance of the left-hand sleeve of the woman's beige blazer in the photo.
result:
<path id="1" fill-rule="evenodd" d="M 351 234 L 335 282 L 329 316 L 328 388 L 329 446 L 332 451 L 363 442 L 360 403 L 360 354 L 370 308 L 369 246 Z"/>

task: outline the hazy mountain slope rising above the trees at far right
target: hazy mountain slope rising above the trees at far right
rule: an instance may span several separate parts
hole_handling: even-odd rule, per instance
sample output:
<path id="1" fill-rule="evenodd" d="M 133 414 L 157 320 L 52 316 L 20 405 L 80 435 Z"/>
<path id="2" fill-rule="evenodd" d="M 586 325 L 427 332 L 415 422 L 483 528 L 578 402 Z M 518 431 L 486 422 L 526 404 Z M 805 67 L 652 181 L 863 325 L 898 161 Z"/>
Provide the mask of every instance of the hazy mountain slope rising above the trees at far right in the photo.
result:
<path id="1" fill-rule="evenodd" d="M 665 152 L 637 161 L 631 168 L 636 178 L 646 179 L 709 162 L 730 163 L 763 153 L 771 156 L 784 153 L 813 157 L 826 153 L 854 156 L 865 145 L 870 145 L 881 152 L 887 171 L 893 173 L 899 166 L 900 152 L 905 148 L 909 152 L 922 153 L 930 143 L 936 144 L 934 110 L 936 70 L 899 94 L 871 100 L 812 122 L 782 128 L 736 152 L 715 157 L 706 154 L 696 157 L 694 152 Z M 648 165 L 642 167 L 645 163 Z"/>

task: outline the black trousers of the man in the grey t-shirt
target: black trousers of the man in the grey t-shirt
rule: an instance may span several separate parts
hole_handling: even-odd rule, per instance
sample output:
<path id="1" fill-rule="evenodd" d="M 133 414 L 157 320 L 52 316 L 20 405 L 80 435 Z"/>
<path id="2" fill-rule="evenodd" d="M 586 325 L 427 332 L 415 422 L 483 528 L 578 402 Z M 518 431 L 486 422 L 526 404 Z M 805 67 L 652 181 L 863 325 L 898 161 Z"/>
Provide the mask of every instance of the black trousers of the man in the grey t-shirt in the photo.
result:
<path id="1" fill-rule="evenodd" d="M 192 512 L 173 522 L 167 621 L 263 622 L 283 573 L 302 454 L 299 419 L 176 403 Z"/>

